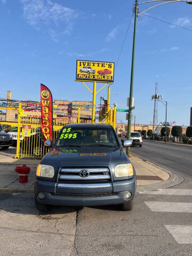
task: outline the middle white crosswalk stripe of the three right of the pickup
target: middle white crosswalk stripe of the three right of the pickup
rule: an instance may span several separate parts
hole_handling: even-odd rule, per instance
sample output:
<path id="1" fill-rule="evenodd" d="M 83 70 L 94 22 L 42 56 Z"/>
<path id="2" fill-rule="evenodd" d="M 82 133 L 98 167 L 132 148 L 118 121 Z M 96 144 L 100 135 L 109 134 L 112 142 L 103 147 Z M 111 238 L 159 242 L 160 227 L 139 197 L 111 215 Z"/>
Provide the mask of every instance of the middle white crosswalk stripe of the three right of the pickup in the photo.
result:
<path id="1" fill-rule="evenodd" d="M 153 212 L 192 212 L 192 203 L 151 202 L 145 203 Z"/>

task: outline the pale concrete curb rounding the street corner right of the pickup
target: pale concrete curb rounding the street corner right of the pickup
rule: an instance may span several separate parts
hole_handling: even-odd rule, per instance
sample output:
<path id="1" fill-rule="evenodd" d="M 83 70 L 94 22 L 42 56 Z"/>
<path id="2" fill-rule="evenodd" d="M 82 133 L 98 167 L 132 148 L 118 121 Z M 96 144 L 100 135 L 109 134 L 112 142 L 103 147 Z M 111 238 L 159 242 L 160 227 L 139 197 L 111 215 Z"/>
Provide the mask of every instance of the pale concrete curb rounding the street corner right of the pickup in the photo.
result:
<path id="1" fill-rule="evenodd" d="M 139 157 L 139 156 L 134 155 L 134 154 L 132 154 L 132 155 L 142 159 L 143 161 L 147 162 L 148 164 L 153 165 L 156 168 L 158 168 L 158 169 L 160 169 L 160 170 L 162 170 L 162 171 L 164 171 L 164 172 L 166 172 L 166 173 L 168 173 L 170 175 L 170 178 L 167 179 L 167 180 L 164 180 L 164 181 L 161 181 L 161 182 L 158 182 L 158 183 L 149 184 L 149 185 L 137 186 L 137 189 L 139 191 L 155 190 L 155 189 L 159 189 L 159 188 L 169 188 L 169 187 L 178 185 L 181 182 L 183 182 L 184 179 L 183 179 L 182 176 L 180 176 L 178 174 L 175 174 L 172 171 L 166 170 L 163 167 L 158 166 L 157 164 L 151 163 L 151 162 L 149 162 L 148 160 L 146 160 L 146 159 L 144 159 L 142 157 Z"/>

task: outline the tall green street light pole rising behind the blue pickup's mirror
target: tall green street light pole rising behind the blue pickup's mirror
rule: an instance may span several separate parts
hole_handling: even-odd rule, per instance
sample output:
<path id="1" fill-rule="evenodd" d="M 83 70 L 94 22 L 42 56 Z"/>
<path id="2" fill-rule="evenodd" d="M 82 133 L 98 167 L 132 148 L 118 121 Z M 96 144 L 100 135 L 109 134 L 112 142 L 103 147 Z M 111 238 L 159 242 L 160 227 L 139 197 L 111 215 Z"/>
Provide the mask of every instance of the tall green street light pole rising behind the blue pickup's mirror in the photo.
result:
<path id="1" fill-rule="evenodd" d="M 131 117 L 132 117 L 132 98 L 133 98 L 133 78 L 134 78 L 134 59 L 135 59 L 135 41 L 137 31 L 137 15 L 138 15 L 138 0 L 135 0 L 134 6 L 134 34 L 133 34 L 133 50 L 132 50 L 132 65 L 131 65 L 131 82 L 130 82 L 130 98 L 129 98 L 129 110 L 128 110 L 128 125 L 127 125 L 127 139 L 131 139 Z M 127 156 L 130 156 L 130 147 L 126 148 Z"/>

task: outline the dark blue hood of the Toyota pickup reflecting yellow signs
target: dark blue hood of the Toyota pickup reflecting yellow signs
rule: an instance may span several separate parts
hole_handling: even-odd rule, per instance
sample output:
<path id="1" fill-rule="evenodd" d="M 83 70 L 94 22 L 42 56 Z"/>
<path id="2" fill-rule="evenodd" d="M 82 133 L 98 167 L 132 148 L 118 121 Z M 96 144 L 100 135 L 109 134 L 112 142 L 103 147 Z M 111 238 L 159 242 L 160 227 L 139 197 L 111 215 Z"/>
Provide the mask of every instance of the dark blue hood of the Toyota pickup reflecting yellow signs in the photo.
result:
<path id="1" fill-rule="evenodd" d="M 55 171 L 60 167 L 106 166 L 111 170 L 117 164 L 129 163 L 122 148 L 109 147 L 62 147 L 53 148 L 42 159 L 41 164 L 52 165 Z"/>

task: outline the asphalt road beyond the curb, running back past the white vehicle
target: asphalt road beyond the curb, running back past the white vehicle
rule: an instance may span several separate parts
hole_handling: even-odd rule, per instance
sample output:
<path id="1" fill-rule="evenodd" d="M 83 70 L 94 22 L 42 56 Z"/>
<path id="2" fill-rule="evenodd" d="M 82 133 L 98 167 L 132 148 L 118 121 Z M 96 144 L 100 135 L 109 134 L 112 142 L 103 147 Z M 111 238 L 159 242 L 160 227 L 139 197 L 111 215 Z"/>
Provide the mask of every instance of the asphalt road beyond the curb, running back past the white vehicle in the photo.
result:
<path id="1" fill-rule="evenodd" d="M 142 147 L 131 147 L 131 153 L 192 178 L 192 147 L 144 140 Z"/>

